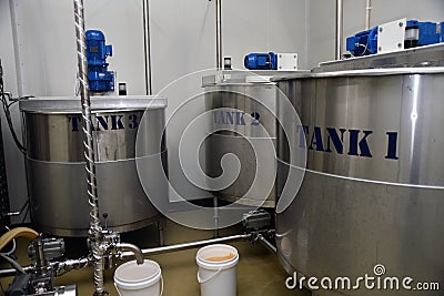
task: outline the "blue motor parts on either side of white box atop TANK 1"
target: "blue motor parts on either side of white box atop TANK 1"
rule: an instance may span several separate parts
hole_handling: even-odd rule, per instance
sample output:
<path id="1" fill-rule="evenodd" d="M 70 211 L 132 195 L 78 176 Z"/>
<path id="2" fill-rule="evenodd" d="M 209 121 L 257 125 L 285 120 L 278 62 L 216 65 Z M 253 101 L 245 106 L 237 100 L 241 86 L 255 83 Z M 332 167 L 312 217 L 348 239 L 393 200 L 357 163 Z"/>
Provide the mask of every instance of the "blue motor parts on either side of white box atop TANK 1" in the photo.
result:
<path id="1" fill-rule="evenodd" d="M 444 42 L 444 22 L 408 20 L 405 25 L 404 48 L 416 48 Z M 359 32 L 346 39 L 346 50 L 354 57 L 377 53 L 379 27 Z"/>

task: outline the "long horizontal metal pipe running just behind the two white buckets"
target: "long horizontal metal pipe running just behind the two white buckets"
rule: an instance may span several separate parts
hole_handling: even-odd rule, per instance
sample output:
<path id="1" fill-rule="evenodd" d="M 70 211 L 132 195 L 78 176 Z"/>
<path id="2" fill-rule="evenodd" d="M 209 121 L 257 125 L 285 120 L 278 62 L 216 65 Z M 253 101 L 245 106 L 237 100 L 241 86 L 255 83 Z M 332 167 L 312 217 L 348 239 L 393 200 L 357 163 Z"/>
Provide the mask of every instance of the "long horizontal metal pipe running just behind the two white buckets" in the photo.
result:
<path id="1" fill-rule="evenodd" d="M 175 245 L 163 246 L 163 247 L 145 248 L 145 249 L 142 249 L 142 253 L 145 256 L 147 255 L 155 255 L 155 254 L 162 254 L 162 253 L 169 253 L 169 252 L 175 252 L 175 251 L 183 251 L 183 249 L 200 247 L 200 246 L 210 245 L 210 244 L 218 244 L 218 243 L 226 243 L 226 242 L 232 242 L 232 241 L 249 239 L 251 237 L 252 237 L 252 234 L 238 234 L 238 235 L 211 238 L 211 239 L 205 239 L 205 241 L 175 244 Z M 122 258 L 130 257 L 130 256 L 133 256 L 133 254 L 130 253 L 130 252 L 124 252 L 124 253 L 121 254 Z"/>

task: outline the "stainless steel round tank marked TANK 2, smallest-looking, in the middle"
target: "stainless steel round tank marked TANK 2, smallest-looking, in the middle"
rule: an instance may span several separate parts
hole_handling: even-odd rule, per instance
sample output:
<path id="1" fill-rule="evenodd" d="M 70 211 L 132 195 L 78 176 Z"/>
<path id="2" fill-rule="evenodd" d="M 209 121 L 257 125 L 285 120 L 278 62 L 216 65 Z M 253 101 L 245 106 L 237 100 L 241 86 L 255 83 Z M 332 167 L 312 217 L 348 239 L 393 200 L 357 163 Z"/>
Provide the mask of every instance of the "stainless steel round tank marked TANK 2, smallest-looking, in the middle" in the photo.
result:
<path id="1" fill-rule="evenodd" d="M 252 143 L 264 145 L 263 142 L 271 141 L 273 146 L 276 144 L 276 85 L 263 79 L 262 82 L 248 83 L 245 73 L 241 73 L 241 79 L 236 79 L 234 74 L 232 78 L 223 83 L 204 84 L 205 110 L 212 112 L 211 124 L 215 131 L 205 140 L 206 174 L 211 177 L 221 175 L 222 156 L 233 153 L 239 157 L 241 165 L 239 176 L 230 186 L 213 191 L 213 194 L 221 200 L 241 205 L 274 207 L 276 202 L 274 185 L 251 192 L 249 190 L 255 177 L 259 178 L 256 184 L 266 183 L 264 180 L 261 181 L 266 174 L 256 172 L 256 161 L 275 163 L 275 153 L 254 151 Z M 268 170 L 275 172 L 276 167 L 271 165 Z M 258 192 L 264 193 L 264 196 L 260 196 Z"/>

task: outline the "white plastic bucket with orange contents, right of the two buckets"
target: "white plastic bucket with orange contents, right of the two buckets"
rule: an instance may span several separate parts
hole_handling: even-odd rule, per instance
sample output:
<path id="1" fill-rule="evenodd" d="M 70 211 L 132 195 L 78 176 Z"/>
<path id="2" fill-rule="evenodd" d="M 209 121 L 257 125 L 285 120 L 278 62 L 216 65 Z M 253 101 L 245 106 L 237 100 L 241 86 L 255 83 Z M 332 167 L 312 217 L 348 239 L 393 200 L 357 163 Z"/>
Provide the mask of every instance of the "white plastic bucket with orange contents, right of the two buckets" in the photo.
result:
<path id="1" fill-rule="evenodd" d="M 238 249 L 230 245 L 209 245 L 198 251 L 198 282 L 201 296 L 235 296 Z"/>

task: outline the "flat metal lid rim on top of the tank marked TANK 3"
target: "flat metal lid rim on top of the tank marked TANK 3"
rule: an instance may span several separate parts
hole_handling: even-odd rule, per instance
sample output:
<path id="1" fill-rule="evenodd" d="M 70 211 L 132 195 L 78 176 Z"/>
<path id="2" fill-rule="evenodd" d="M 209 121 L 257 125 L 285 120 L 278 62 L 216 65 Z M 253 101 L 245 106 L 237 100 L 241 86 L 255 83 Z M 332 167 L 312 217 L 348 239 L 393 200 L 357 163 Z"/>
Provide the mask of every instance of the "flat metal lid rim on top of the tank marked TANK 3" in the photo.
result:
<path id="1" fill-rule="evenodd" d="M 164 108 L 167 108 L 167 99 L 159 96 L 91 96 L 92 112 Z M 39 96 L 20 101 L 20 110 L 37 113 L 79 113 L 81 104 L 80 98 L 77 96 Z"/>

